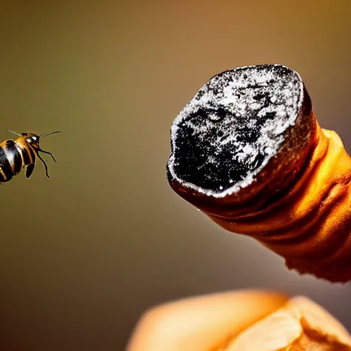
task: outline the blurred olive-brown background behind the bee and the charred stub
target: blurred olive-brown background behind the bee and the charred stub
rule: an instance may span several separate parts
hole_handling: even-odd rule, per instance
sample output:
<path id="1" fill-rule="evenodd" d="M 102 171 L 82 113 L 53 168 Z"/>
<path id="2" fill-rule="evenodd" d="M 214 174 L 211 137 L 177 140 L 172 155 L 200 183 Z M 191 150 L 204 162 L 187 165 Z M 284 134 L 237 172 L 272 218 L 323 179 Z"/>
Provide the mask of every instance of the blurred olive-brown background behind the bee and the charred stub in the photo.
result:
<path id="1" fill-rule="evenodd" d="M 265 287 L 307 295 L 351 330 L 351 287 L 300 277 L 169 188 L 175 116 L 213 75 L 300 73 L 351 152 L 350 0 L 1 1 L 0 139 L 45 158 L 0 187 L 1 350 L 123 350 L 149 307 Z"/>

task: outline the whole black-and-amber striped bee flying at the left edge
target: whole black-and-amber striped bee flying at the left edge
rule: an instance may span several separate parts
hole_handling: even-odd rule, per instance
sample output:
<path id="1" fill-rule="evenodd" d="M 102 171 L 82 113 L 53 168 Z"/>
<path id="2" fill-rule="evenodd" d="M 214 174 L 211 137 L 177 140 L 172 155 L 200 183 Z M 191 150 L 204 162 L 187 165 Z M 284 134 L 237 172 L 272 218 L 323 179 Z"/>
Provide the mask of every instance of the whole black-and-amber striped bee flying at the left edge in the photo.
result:
<path id="1" fill-rule="evenodd" d="M 18 134 L 12 132 L 12 130 L 9 130 L 9 132 L 19 137 L 16 138 L 16 140 L 8 139 L 0 143 L 0 184 L 11 180 L 12 177 L 19 174 L 22 169 L 25 169 L 25 178 L 29 179 L 34 171 L 36 157 L 43 162 L 47 178 L 50 178 L 47 172 L 47 164 L 43 158 L 40 157 L 39 152 L 49 154 L 56 163 L 57 161 L 51 152 L 40 149 L 39 140 L 51 134 L 61 133 L 61 131 L 44 135 L 34 133 Z"/>

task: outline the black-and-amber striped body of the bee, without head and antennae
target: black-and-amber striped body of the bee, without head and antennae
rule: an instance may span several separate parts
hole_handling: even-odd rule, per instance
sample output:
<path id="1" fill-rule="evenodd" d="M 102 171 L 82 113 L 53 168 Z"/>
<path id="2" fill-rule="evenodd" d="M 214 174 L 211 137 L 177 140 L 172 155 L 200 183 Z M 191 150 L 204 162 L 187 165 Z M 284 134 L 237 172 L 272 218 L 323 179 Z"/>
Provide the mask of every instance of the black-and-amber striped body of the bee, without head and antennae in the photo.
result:
<path id="1" fill-rule="evenodd" d="M 32 147 L 7 140 L 0 144 L 0 183 L 8 182 L 27 167 L 25 176 L 30 177 L 34 169 L 36 155 Z"/>

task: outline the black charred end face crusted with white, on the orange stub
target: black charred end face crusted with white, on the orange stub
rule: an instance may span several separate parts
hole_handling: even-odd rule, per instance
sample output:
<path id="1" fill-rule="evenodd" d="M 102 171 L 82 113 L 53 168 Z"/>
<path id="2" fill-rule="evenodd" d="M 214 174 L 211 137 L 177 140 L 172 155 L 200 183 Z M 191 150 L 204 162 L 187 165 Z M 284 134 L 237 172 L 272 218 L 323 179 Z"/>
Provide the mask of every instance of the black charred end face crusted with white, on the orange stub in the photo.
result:
<path id="1" fill-rule="evenodd" d="M 284 145 L 297 155 L 306 148 L 311 111 L 300 75 L 286 66 L 261 64 L 219 73 L 171 125 L 169 182 L 213 197 L 238 193 Z M 305 117 L 307 128 L 306 121 L 299 121 Z"/>

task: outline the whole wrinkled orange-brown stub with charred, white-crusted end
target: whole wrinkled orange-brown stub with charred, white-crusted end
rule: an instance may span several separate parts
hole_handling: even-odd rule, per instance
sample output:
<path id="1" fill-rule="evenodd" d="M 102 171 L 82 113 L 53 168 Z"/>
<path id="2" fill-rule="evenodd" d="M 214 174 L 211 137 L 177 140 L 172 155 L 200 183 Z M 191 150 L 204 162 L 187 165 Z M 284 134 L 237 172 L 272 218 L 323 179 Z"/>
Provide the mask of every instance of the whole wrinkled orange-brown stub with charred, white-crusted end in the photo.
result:
<path id="1" fill-rule="evenodd" d="M 351 158 L 319 127 L 298 73 L 259 65 L 215 75 L 171 126 L 171 188 L 289 269 L 351 280 Z"/>

